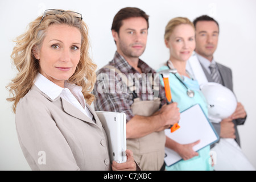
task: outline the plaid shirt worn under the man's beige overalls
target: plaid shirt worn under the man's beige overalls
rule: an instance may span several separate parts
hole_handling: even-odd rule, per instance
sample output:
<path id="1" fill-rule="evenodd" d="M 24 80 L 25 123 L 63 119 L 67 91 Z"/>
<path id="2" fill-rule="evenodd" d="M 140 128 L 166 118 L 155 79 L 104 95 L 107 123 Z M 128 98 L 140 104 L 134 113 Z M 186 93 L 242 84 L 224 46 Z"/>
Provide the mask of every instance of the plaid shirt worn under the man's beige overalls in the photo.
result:
<path id="1" fill-rule="evenodd" d="M 93 94 L 96 96 L 96 100 L 94 100 L 95 110 L 125 113 L 128 122 L 134 117 L 131 110 L 134 97 L 139 97 L 140 100 L 144 101 L 153 100 L 155 96 L 160 98 L 160 107 L 166 104 L 164 88 L 159 84 L 158 73 L 142 60 L 139 59 L 138 62 L 138 67 L 141 68 L 142 73 L 131 67 L 118 52 L 115 52 L 114 59 L 108 65 L 119 69 L 126 78 L 134 77 L 133 85 L 135 85 L 135 93 L 137 94 L 130 93 L 128 86 L 121 84 L 122 79 L 119 79 L 118 73 L 114 72 L 113 69 L 101 68 L 97 71 L 97 81 L 93 89 Z M 152 90 L 152 80 L 155 81 L 155 87 L 159 87 L 159 92 Z"/>

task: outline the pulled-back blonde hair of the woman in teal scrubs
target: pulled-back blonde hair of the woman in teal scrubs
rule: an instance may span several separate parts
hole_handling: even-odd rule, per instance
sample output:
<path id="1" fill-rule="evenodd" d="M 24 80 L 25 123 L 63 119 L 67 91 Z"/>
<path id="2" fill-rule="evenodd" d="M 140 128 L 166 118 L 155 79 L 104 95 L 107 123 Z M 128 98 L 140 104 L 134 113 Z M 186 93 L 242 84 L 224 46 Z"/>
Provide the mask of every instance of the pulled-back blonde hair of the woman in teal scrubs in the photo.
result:
<path id="1" fill-rule="evenodd" d="M 191 25 L 194 30 L 195 30 L 195 26 L 194 24 L 188 19 L 188 18 L 184 18 L 184 17 L 177 17 L 177 18 L 173 18 L 171 19 L 167 26 L 166 26 L 166 30 L 164 32 L 164 40 L 169 40 L 170 35 L 172 34 L 172 32 L 174 31 L 174 28 L 179 26 L 180 24 L 189 24 Z"/>

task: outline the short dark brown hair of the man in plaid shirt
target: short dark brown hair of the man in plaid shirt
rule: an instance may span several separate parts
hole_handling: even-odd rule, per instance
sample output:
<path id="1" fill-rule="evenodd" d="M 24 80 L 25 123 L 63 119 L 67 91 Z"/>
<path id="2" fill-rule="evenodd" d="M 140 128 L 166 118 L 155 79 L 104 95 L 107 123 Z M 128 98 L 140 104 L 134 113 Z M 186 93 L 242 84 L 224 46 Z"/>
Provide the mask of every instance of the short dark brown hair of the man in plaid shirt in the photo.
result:
<path id="1" fill-rule="evenodd" d="M 117 33 L 119 33 L 119 29 L 122 26 L 122 20 L 133 17 L 144 18 L 147 22 L 147 28 L 149 27 L 148 15 L 144 11 L 138 9 L 137 7 L 125 7 L 119 10 L 118 13 L 114 16 L 111 30 L 114 30 Z"/>

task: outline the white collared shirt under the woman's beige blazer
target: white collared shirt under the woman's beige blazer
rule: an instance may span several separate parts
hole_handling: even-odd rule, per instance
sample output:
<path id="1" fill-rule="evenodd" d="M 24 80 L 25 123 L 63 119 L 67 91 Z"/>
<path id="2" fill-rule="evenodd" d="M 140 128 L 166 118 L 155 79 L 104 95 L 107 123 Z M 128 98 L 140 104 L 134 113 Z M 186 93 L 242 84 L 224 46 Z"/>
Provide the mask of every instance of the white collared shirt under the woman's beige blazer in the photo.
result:
<path id="1" fill-rule="evenodd" d="M 64 88 L 56 85 L 52 81 L 48 80 L 42 74 L 38 73 L 34 83 L 43 93 L 47 94 L 49 98 L 55 100 L 57 97 L 61 97 L 64 100 L 77 107 L 82 113 L 84 113 L 90 119 L 93 118 L 92 113 L 86 107 L 85 99 L 82 94 L 82 87 L 75 84 L 69 84 L 64 82 Z"/>

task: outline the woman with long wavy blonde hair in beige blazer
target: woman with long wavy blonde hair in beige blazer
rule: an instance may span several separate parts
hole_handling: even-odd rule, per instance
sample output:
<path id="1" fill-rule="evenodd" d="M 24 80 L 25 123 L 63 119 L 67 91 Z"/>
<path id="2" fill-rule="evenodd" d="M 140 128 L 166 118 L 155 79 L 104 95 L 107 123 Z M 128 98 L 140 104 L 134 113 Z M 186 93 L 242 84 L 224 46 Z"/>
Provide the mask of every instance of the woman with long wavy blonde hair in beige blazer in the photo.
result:
<path id="1" fill-rule="evenodd" d="M 88 48 L 88 28 L 72 11 L 46 10 L 16 39 L 18 74 L 7 100 L 32 170 L 136 169 L 129 150 L 126 163 L 111 166 L 108 138 L 89 106 L 96 65 Z"/>

